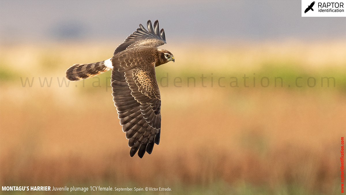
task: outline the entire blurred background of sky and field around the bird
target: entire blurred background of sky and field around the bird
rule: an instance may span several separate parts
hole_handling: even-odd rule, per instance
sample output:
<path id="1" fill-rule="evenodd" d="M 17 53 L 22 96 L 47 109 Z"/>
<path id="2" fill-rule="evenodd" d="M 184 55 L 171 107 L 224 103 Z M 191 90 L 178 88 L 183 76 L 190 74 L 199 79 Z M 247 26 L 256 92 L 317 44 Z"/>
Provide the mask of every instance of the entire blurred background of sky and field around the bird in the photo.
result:
<path id="1" fill-rule="evenodd" d="M 156 68 L 161 142 L 140 159 L 110 72 L 64 77 L 149 19 L 175 63 Z M 301 1 L 1 0 L 0 185 L 339 194 L 345 73 L 345 18 L 301 17 Z"/>

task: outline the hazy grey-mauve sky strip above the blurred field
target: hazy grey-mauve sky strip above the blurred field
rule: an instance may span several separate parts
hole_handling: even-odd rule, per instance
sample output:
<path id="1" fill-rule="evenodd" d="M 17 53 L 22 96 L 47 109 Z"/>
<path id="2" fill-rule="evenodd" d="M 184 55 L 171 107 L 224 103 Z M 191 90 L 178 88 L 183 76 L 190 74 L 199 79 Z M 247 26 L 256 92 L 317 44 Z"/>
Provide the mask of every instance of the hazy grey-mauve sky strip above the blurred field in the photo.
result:
<path id="1" fill-rule="evenodd" d="M 301 17 L 300 0 L 1 0 L 0 41 L 124 39 L 148 19 L 167 38 L 346 41 L 345 17 Z"/>

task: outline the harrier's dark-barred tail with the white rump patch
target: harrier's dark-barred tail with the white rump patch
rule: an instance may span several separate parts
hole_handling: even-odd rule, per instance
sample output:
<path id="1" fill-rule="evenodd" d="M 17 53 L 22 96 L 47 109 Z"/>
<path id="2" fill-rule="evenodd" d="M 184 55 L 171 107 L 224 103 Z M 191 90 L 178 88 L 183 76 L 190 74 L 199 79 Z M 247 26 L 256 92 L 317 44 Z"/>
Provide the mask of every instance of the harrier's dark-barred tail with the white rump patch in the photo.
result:
<path id="1" fill-rule="evenodd" d="M 66 78 L 70 81 L 79 81 L 107 72 L 112 69 L 111 67 L 110 59 L 90 64 L 73 64 L 66 70 Z"/>

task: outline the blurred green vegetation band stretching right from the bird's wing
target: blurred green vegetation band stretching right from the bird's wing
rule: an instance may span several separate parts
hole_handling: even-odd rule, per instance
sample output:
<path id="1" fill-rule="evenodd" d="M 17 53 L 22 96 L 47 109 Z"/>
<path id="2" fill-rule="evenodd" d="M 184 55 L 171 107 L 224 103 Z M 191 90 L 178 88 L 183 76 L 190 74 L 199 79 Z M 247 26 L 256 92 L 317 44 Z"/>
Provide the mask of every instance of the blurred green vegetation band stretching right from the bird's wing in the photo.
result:
<path id="1" fill-rule="evenodd" d="M 232 85 L 231 88 L 243 89 L 256 87 L 263 89 L 284 88 L 288 90 L 309 90 L 313 88 L 318 90 L 336 89 L 342 93 L 346 92 L 345 69 L 331 68 L 309 71 L 298 67 L 296 65 L 275 66 L 271 64 L 264 65 L 255 71 L 246 70 L 244 72 L 227 72 L 222 70 L 210 72 L 191 70 L 189 68 L 167 72 L 164 68 L 157 68 L 156 77 L 159 87 L 160 84 L 161 86 L 167 86 L 168 84 L 168 86 L 194 87 L 195 83 L 197 87 L 202 87 L 203 84 L 205 87 L 216 88 L 230 88 Z M 244 79 L 244 77 L 246 78 Z M 244 80 L 246 81 L 245 84 Z M 235 87 L 236 84 L 238 87 Z"/>

